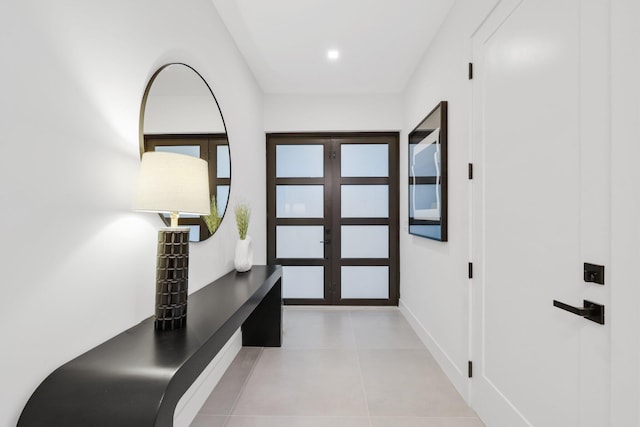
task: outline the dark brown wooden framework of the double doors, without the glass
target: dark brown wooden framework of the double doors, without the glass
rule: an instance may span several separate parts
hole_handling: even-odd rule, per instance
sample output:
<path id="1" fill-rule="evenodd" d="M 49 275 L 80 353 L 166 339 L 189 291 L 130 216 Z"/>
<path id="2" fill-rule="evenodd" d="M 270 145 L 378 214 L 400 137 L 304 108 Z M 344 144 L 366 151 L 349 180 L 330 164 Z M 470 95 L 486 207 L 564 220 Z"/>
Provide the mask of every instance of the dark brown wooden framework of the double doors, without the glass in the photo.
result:
<path id="1" fill-rule="evenodd" d="M 340 176 L 341 144 L 388 144 L 388 177 Z M 276 145 L 324 146 L 323 178 L 276 178 Z M 324 185 L 324 218 L 276 218 L 277 185 Z M 341 218 L 341 185 L 388 185 L 388 218 Z M 329 201 L 329 203 L 326 203 Z M 322 225 L 325 239 L 325 259 L 276 258 L 276 225 Z M 389 258 L 342 259 L 340 227 L 342 225 L 388 225 Z M 268 133 L 267 134 L 267 260 L 269 264 L 325 266 L 325 299 L 285 299 L 285 304 L 302 305 L 398 305 L 399 283 L 399 134 L 397 132 L 331 132 L 331 133 Z M 328 232 L 328 230 L 330 232 Z M 330 268 L 327 267 L 331 266 Z M 388 266 L 388 299 L 341 299 L 342 266 Z"/>

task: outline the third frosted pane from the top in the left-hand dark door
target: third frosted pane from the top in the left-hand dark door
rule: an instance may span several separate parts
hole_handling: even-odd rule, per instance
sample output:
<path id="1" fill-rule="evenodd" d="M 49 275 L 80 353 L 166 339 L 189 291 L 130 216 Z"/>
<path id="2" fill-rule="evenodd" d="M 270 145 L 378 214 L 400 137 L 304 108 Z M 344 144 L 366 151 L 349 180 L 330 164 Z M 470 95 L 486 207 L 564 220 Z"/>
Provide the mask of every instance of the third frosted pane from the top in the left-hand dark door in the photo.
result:
<path id="1" fill-rule="evenodd" d="M 279 225 L 276 227 L 276 258 L 324 258 L 324 227 Z"/>

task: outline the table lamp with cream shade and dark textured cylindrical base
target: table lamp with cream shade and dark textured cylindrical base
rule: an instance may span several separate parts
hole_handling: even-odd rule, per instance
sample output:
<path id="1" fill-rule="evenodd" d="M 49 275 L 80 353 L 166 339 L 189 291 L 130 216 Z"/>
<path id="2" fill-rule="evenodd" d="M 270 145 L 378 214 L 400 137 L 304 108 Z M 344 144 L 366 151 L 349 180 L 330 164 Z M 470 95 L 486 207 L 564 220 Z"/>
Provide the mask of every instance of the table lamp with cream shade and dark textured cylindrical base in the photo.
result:
<path id="1" fill-rule="evenodd" d="M 135 210 L 168 213 L 171 225 L 158 231 L 155 327 L 179 329 L 187 322 L 189 228 L 178 227 L 180 213 L 208 215 L 207 162 L 182 154 L 142 155 Z"/>

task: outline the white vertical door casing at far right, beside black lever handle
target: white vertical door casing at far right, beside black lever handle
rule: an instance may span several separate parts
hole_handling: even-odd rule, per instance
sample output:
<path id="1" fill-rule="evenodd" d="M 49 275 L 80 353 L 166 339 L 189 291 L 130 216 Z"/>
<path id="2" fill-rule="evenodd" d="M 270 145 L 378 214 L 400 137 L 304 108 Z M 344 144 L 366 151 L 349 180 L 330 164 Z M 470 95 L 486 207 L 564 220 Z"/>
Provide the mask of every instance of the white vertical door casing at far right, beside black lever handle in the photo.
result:
<path id="1" fill-rule="evenodd" d="M 612 3 L 611 426 L 640 425 L 640 2 Z"/>

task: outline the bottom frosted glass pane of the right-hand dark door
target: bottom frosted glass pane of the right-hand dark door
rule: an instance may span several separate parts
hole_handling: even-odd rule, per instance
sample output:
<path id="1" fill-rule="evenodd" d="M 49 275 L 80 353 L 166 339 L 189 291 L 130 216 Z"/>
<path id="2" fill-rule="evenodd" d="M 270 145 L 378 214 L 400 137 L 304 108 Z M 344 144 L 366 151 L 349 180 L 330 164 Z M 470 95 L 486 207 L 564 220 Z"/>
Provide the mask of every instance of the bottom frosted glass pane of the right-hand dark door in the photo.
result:
<path id="1" fill-rule="evenodd" d="M 342 298 L 389 298 L 389 267 L 342 267 Z"/>

